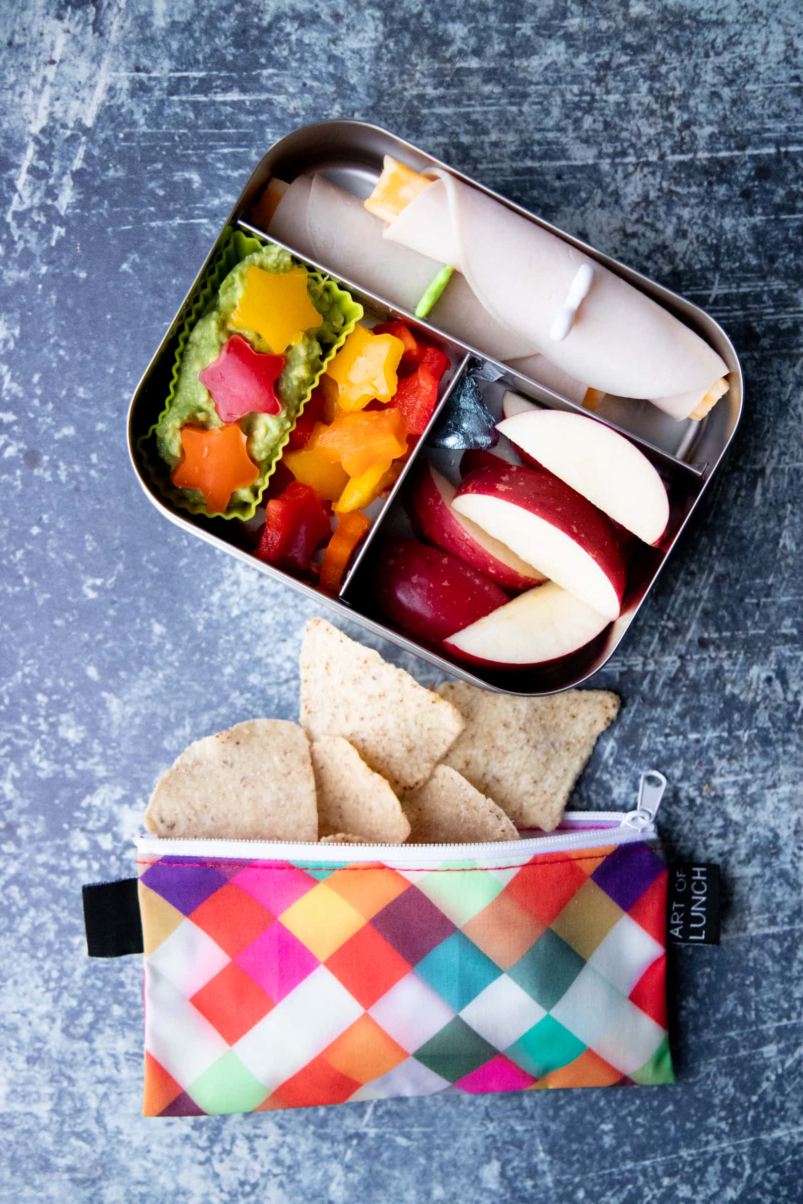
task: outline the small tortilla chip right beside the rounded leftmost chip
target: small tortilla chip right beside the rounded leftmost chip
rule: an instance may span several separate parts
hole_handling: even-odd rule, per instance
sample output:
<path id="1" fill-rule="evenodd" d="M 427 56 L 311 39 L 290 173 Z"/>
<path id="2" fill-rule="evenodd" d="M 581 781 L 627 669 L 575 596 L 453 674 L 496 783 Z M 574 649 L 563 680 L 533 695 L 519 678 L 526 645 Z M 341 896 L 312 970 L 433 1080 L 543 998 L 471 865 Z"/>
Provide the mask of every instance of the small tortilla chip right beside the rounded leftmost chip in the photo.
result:
<path id="1" fill-rule="evenodd" d="M 321 834 L 354 832 L 377 844 L 407 839 L 409 824 L 392 790 L 342 736 L 313 740 L 312 768 Z"/>

